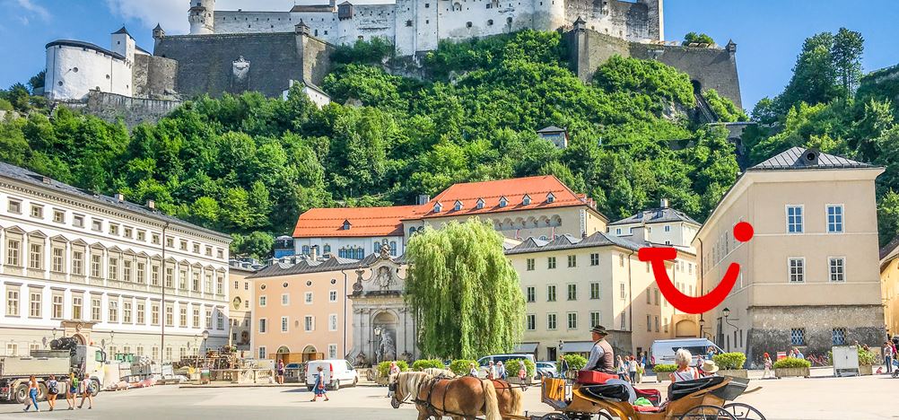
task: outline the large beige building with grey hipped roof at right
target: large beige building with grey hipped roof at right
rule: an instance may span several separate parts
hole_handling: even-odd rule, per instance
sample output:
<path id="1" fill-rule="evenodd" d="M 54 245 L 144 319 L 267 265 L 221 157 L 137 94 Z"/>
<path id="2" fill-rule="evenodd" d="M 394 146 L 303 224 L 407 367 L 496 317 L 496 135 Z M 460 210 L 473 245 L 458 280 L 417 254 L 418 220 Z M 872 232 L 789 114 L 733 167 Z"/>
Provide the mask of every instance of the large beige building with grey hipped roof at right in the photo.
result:
<path id="1" fill-rule="evenodd" d="M 741 265 L 725 301 L 704 314 L 705 332 L 750 362 L 790 346 L 824 354 L 882 342 L 874 181 L 883 171 L 801 147 L 749 168 L 694 241 L 705 293 Z M 749 242 L 734 240 L 740 221 L 754 228 Z"/>

